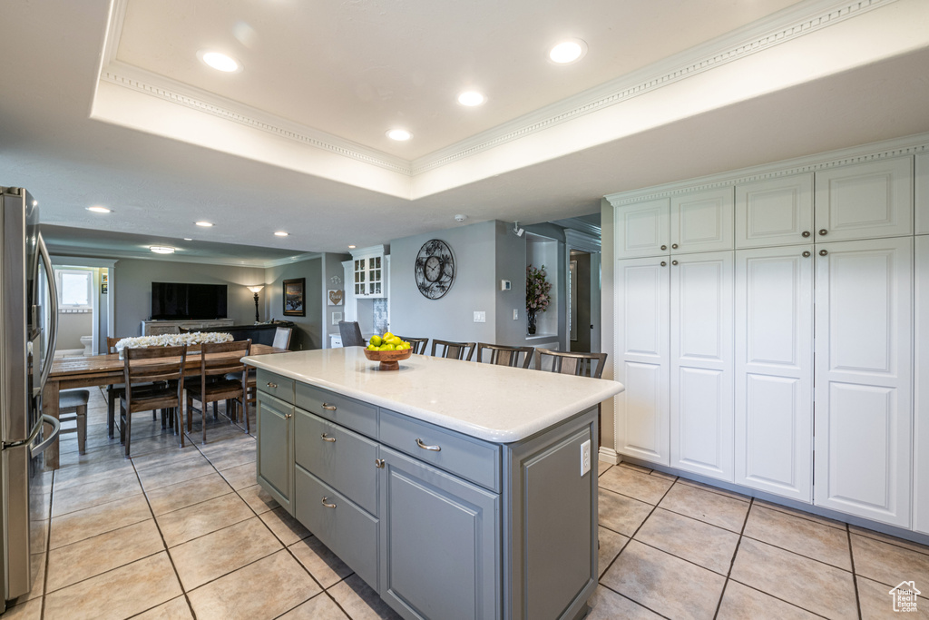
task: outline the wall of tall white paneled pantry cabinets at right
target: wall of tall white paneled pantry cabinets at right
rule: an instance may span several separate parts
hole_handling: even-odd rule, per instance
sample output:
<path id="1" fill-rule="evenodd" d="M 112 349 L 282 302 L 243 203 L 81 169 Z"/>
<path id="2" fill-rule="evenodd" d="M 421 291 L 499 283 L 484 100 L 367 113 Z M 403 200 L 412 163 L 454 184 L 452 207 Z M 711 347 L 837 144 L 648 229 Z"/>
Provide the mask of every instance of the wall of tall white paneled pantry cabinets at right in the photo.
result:
<path id="1" fill-rule="evenodd" d="M 920 148 L 607 197 L 620 455 L 929 534 Z"/>

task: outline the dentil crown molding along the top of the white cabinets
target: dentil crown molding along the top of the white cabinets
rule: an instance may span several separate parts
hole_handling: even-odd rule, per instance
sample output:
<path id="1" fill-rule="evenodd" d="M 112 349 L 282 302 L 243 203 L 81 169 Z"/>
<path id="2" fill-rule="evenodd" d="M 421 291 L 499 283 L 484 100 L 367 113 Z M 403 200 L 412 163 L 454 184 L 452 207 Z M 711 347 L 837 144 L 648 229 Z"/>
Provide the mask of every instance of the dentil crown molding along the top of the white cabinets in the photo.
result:
<path id="1" fill-rule="evenodd" d="M 840 149 L 838 151 L 822 152 L 805 157 L 783 160 L 774 164 L 755 165 L 739 170 L 730 170 L 718 175 L 708 177 L 690 178 L 674 183 L 665 183 L 654 187 L 633 191 L 620 191 L 604 196 L 614 207 L 628 204 L 669 198 L 674 195 L 692 191 L 713 190 L 716 188 L 751 183 L 768 178 L 788 177 L 805 172 L 816 172 L 837 165 L 862 164 L 889 157 L 902 157 L 921 152 L 929 152 L 929 133 L 871 142 L 861 146 Z"/>

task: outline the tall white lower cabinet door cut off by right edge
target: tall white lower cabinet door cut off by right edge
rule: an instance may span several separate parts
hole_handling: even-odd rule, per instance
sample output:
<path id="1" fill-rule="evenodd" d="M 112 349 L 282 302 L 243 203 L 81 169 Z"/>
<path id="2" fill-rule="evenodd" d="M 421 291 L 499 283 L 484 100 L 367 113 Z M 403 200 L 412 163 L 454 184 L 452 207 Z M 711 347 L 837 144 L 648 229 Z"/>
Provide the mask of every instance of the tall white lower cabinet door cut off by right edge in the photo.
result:
<path id="1" fill-rule="evenodd" d="M 929 197 L 929 196 L 927 196 Z M 929 534 L 929 235 L 916 237 L 916 420 L 913 529 Z"/>

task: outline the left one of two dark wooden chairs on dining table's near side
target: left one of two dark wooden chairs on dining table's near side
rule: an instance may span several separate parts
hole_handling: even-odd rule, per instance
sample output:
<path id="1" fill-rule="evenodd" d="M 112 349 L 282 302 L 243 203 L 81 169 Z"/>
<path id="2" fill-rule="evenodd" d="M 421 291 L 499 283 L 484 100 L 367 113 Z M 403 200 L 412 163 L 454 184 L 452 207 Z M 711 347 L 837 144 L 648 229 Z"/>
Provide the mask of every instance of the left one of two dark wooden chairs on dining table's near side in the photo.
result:
<path id="1" fill-rule="evenodd" d="M 124 349 L 125 390 L 120 397 L 120 442 L 129 457 L 132 441 L 132 415 L 139 411 L 162 410 L 177 420 L 175 432 L 184 447 L 184 361 L 187 345 Z M 170 413 L 169 413 L 170 412 Z M 164 426 L 164 420 L 163 420 Z"/>

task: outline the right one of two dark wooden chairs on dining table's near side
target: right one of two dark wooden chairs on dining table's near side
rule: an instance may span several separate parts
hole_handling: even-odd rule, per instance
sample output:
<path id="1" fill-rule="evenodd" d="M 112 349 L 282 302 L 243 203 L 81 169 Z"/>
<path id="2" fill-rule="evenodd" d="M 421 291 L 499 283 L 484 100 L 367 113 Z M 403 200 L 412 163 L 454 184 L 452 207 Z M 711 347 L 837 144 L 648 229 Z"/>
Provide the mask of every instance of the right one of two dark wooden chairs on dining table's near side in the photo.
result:
<path id="1" fill-rule="evenodd" d="M 245 418 L 245 432 L 251 432 L 248 421 L 248 370 L 242 358 L 252 349 L 251 340 L 233 340 L 232 342 L 204 342 L 201 345 L 200 374 L 185 384 L 187 389 L 187 429 L 192 430 L 193 402 L 200 402 L 203 419 L 203 443 L 206 443 L 206 405 L 210 402 L 238 401 L 242 403 L 242 416 Z M 237 378 L 229 379 L 227 375 Z M 231 402 L 229 402 L 231 404 Z M 232 412 L 227 405 L 229 422 Z M 216 406 L 213 409 L 216 418 Z"/>

